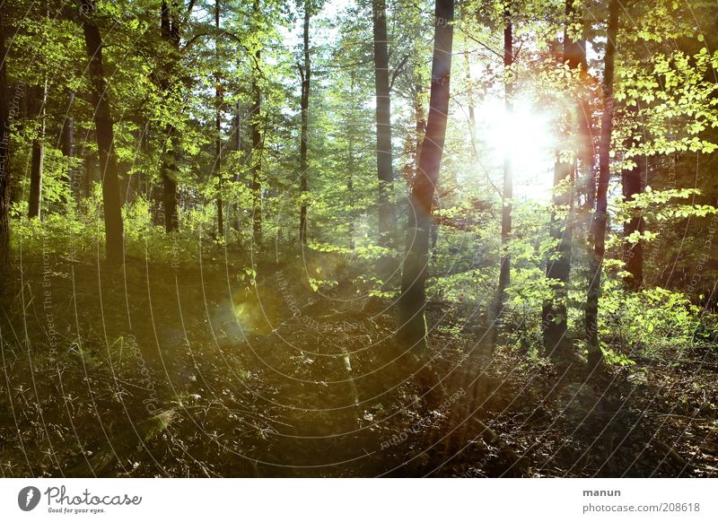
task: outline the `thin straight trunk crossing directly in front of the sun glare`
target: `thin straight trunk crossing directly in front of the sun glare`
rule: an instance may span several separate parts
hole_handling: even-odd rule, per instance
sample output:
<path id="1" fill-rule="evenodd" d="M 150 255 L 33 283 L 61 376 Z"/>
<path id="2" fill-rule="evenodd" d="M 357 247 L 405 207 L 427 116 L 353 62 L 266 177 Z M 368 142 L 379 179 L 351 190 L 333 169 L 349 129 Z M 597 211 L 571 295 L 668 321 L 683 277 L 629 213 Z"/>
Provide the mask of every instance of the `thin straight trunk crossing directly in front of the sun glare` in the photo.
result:
<path id="1" fill-rule="evenodd" d="M 503 97 L 505 106 L 505 115 L 508 121 L 511 121 L 513 113 L 513 85 L 512 85 L 512 65 L 513 65 L 513 36 L 512 36 L 512 13 L 511 4 L 505 2 L 503 4 Z M 501 212 L 501 266 L 499 269 L 499 283 L 496 291 L 496 310 L 494 317 L 495 324 L 492 326 L 492 341 L 495 341 L 497 332 L 496 323 L 500 323 L 503 317 L 503 306 L 506 303 L 506 288 L 511 283 L 511 255 L 509 254 L 509 239 L 511 239 L 511 213 L 512 213 L 512 197 L 513 197 L 513 171 L 512 171 L 512 153 L 509 144 L 504 145 L 506 150 L 503 152 L 503 193 L 502 193 L 502 212 Z"/>

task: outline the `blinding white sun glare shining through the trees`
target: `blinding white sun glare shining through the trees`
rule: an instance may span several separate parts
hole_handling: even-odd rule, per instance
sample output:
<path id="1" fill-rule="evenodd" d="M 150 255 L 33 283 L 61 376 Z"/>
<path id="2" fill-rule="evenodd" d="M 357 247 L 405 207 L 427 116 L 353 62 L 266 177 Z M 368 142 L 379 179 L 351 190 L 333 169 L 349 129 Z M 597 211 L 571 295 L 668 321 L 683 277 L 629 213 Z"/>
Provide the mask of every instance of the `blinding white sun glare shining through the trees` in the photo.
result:
<path id="1" fill-rule="evenodd" d="M 506 116 L 503 100 L 490 99 L 477 107 L 477 138 L 491 158 L 490 176 L 500 185 L 503 154 L 510 152 L 513 167 L 513 196 L 547 200 L 551 197 L 556 141 L 550 114 L 527 100 L 514 103 Z M 498 166 L 498 170 L 495 169 Z"/>

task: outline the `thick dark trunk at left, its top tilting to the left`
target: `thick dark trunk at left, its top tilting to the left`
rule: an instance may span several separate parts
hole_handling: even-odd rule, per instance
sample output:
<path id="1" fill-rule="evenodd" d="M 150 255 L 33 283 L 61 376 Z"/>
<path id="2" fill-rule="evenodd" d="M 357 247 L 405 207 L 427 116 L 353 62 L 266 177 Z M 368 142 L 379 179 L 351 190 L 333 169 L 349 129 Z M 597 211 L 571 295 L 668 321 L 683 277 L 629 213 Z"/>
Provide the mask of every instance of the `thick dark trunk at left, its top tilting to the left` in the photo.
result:
<path id="1" fill-rule="evenodd" d="M 94 21 L 94 0 L 83 0 L 85 16 L 83 33 L 89 58 L 89 83 L 92 91 L 93 119 L 97 131 L 100 152 L 100 177 L 102 181 L 102 204 L 105 218 L 105 248 L 110 264 L 124 262 L 124 226 L 119 197 L 118 165 L 114 151 L 114 131 L 109 113 L 107 81 L 102 62 L 102 39 Z"/>

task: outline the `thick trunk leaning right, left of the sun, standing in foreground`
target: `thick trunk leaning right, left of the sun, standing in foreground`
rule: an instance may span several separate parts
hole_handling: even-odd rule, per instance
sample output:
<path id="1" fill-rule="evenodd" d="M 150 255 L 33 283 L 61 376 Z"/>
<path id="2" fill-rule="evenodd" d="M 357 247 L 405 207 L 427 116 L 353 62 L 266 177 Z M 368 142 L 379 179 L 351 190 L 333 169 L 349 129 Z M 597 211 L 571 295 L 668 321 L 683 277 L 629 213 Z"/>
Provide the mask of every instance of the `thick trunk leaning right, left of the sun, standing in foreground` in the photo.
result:
<path id="1" fill-rule="evenodd" d="M 432 202 L 442 163 L 449 114 L 453 0 L 436 0 L 432 87 L 426 135 L 418 172 L 411 188 L 408 212 L 407 254 L 398 300 L 398 337 L 412 346 L 425 346 L 425 283 L 429 257 Z"/>

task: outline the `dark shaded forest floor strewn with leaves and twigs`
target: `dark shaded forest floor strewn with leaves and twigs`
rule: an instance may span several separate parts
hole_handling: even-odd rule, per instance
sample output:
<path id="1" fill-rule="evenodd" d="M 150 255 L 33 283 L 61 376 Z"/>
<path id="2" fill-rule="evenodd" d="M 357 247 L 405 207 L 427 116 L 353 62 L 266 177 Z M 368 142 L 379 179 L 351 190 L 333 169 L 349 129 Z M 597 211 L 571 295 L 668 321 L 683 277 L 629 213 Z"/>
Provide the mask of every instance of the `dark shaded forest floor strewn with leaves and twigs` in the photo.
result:
<path id="1" fill-rule="evenodd" d="M 487 356 L 433 302 L 442 392 L 421 396 L 387 302 L 242 273 L 23 259 L 0 310 L 2 475 L 718 475 L 716 351 L 559 375 Z"/>

